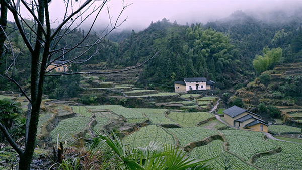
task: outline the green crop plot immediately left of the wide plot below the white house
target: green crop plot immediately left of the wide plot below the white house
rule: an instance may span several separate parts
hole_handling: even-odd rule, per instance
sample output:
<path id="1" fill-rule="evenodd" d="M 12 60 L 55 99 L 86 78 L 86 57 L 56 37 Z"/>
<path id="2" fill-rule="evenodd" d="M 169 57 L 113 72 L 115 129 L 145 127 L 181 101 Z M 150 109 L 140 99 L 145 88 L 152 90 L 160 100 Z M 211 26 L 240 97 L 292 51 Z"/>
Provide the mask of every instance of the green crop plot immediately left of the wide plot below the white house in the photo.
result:
<path id="1" fill-rule="evenodd" d="M 145 114 L 152 124 L 176 124 L 165 116 L 167 109 L 132 109 L 134 111 Z"/>

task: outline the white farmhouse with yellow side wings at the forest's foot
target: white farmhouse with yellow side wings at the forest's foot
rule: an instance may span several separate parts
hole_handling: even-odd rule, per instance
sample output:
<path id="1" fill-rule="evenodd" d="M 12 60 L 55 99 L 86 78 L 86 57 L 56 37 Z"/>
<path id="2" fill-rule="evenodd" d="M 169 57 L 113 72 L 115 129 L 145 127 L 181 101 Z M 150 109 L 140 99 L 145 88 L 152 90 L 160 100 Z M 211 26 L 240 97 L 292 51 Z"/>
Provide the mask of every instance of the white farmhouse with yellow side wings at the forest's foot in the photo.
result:
<path id="1" fill-rule="evenodd" d="M 175 92 L 187 93 L 188 91 L 212 90 L 214 81 L 207 81 L 205 77 L 184 78 L 183 81 L 175 81 Z"/>

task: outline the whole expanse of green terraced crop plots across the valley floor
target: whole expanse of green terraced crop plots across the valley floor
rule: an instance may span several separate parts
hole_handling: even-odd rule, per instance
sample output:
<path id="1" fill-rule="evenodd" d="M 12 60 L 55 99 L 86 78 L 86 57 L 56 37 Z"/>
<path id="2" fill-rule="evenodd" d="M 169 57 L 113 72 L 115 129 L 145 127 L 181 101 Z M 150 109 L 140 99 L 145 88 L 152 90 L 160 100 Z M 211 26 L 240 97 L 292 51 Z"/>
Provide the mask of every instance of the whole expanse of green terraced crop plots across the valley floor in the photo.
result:
<path id="1" fill-rule="evenodd" d="M 208 100 L 205 98 L 204 100 Z M 201 100 L 202 101 L 202 100 Z M 191 102 L 188 102 L 188 104 Z M 226 125 L 215 119 L 214 115 L 207 112 L 170 112 L 168 109 L 146 109 L 125 108 L 118 105 L 106 106 L 74 106 L 72 111 L 77 113 L 75 117 L 61 120 L 50 132 L 52 142 L 57 141 L 57 136 L 62 139 L 71 139 L 72 136 L 85 127 L 92 119 L 93 114 L 97 121 L 94 127 L 100 130 L 110 119 L 118 119 L 122 115 L 130 123 L 142 122 L 149 119 L 150 125 L 139 128 L 137 131 L 125 136 L 122 141 L 127 147 L 145 147 L 151 141 L 167 144 L 180 144 L 184 147 L 190 142 L 203 140 L 204 138 L 223 134 L 228 142 L 229 150 L 223 151 L 223 141 L 214 140 L 207 145 L 195 147 L 189 154 L 199 159 L 215 158 L 208 164 L 213 169 L 256 169 L 249 163 L 249 159 L 256 153 L 269 151 L 280 146 L 280 153 L 262 156 L 254 163 L 262 169 L 300 169 L 302 167 L 302 144 L 281 142 L 275 140 L 264 140 L 263 133 L 244 130 L 217 130 Z M 60 112 L 71 112 L 64 110 L 62 106 L 55 106 Z M 169 113 L 167 115 L 167 113 Z M 53 115 L 51 112 L 40 115 L 39 126 L 49 120 Z M 167 117 L 168 116 L 168 117 Z M 200 127 L 199 122 L 204 122 Z M 162 124 L 179 124 L 183 128 L 163 128 Z M 127 125 L 128 126 L 128 125 Z M 173 126 L 172 126 L 173 127 Z M 273 133 L 301 133 L 300 128 L 286 125 L 271 125 L 269 131 Z M 89 134 L 86 137 L 90 137 Z M 239 157 L 239 158 L 238 158 Z M 242 159 L 242 160 L 241 160 Z"/>

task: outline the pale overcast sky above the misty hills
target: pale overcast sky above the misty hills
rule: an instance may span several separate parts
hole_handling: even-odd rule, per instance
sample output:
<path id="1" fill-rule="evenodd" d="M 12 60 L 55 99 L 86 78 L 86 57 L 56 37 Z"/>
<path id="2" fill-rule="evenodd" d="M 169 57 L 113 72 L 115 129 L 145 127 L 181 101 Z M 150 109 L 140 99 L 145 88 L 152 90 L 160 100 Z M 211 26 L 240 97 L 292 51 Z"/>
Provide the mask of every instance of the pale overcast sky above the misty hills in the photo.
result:
<path id="1" fill-rule="evenodd" d="M 81 2 L 80 0 L 78 3 Z M 83 1 L 84 2 L 84 1 Z M 108 2 L 110 13 L 115 19 L 122 8 L 121 0 L 111 0 Z M 263 13 L 272 9 L 289 9 L 292 11 L 296 7 L 302 6 L 302 1 L 202 1 L 202 0 L 161 0 L 161 1 L 143 1 L 143 0 L 125 0 L 124 4 L 131 4 L 122 14 L 121 19 L 127 18 L 122 24 L 122 29 L 134 29 L 135 31 L 145 29 L 151 21 L 156 22 L 166 18 L 171 22 L 177 21 L 178 24 L 185 25 L 208 21 L 216 21 L 228 17 L 236 10 L 244 12 L 252 11 Z M 50 16 L 54 21 L 61 21 L 65 6 L 62 0 L 52 0 L 50 4 Z M 26 14 L 27 15 L 27 14 Z M 12 21 L 12 17 L 9 16 Z M 100 14 L 97 21 L 98 27 L 104 27 L 108 24 L 107 10 Z"/>

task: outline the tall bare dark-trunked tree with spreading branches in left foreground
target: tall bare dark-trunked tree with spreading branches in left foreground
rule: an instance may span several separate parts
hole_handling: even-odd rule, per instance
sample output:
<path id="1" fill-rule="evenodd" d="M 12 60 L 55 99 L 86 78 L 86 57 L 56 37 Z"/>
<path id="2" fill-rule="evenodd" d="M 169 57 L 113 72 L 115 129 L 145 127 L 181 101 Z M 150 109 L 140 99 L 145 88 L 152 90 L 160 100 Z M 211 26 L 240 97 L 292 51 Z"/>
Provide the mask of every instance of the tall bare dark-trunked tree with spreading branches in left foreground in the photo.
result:
<path id="1" fill-rule="evenodd" d="M 32 21 L 34 22 L 34 26 L 31 26 L 28 20 L 24 19 L 21 13 L 18 10 L 19 2 L 20 6 L 27 9 L 28 14 L 30 15 Z M 39 121 L 40 114 L 40 105 L 42 101 L 42 92 L 43 92 L 43 82 L 45 76 L 57 76 L 57 75 L 70 75 L 70 74 L 81 74 L 87 72 L 72 72 L 72 73 L 61 73 L 61 74 L 50 74 L 55 68 L 46 71 L 46 68 L 54 62 L 62 61 L 62 64 L 58 64 L 56 67 L 60 67 L 63 64 L 74 63 L 81 64 L 88 61 L 91 57 L 98 54 L 101 49 L 100 43 L 102 39 L 106 35 L 108 35 L 114 29 L 117 29 L 126 19 L 120 20 L 121 14 L 123 11 L 129 6 L 129 4 L 122 3 L 122 10 L 119 15 L 113 21 L 112 17 L 109 13 L 109 7 L 107 6 L 107 0 L 103 1 L 95 1 L 95 0 L 86 0 L 85 2 L 78 2 L 78 0 L 64 0 L 64 4 L 66 7 L 63 20 L 59 23 L 59 25 L 52 29 L 52 23 L 49 15 L 49 4 L 51 1 L 49 0 L 0 0 L 1 2 L 1 16 L 0 16 L 0 54 L 1 56 L 11 56 L 13 58 L 13 62 L 8 64 L 9 67 L 5 75 L 2 77 L 7 78 L 16 84 L 16 86 L 20 89 L 23 95 L 28 99 L 31 104 L 31 111 L 29 112 L 30 116 L 28 117 L 28 126 L 26 134 L 26 144 L 24 149 L 21 148 L 10 136 L 5 126 L 0 124 L 0 130 L 3 132 L 4 136 L 11 144 L 11 146 L 16 150 L 16 152 L 20 155 L 19 161 L 19 169 L 30 169 L 30 164 L 32 162 L 32 157 L 35 148 L 35 140 L 37 134 L 37 126 Z M 76 7 L 78 6 L 78 7 Z M 92 32 L 92 28 L 97 21 L 98 16 L 101 11 L 108 11 L 110 24 L 104 30 L 104 32 L 97 38 L 96 41 L 90 42 L 86 41 L 89 37 L 89 34 Z M 20 33 L 22 39 L 24 41 L 25 46 L 28 48 L 31 57 L 31 81 L 30 81 L 30 97 L 26 92 L 22 89 L 16 80 L 9 76 L 9 72 L 14 70 L 15 60 L 17 56 L 14 56 L 13 50 L 12 54 L 6 54 L 6 51 L 10 50 L 8 46 L 5 45 L 5 40 L 7 40 L 8 44 L 10 44 L 9 38 L 6 33 L 7 29 L 7 12 L 10 12 L 14 16 L 15 25 L 17 28 L 15 29 Z M 70 34 L 73 30 L 78 29 L 84 21 L 94 14 L 94 19 L 86 34 L 83 32 L 82 40 L 73 43 L 73 45 L 65 45 L 63 47 L 59 47 L 59 43 L 61 41 L 65 41 L 64 37 Z M 26 32 L 26 28 L 29 28 L 30 31 Z M 10 46 L 12 46 L 10 44 Z M 82 49 L 81 53 L 73 56 L 73 57 L 65 57 L 70 54 L 72 51 Z M 88 55 L 88 51 L 94 50 L 92 53 Z M 159 51 L 158 51 L 159 52 Z M 153 58 L 158 54 L 156 52 L 149 59 Z M 81 59 L 83 58 L 84 59 Z M 1 59 L 1 58 L 0 58 Z M 149 60 L 148 59 L 148 60 Z M 147 61 L 148 61 L 147 60 Z M 145 61 L 145 62 L 147 62 Z M 145 63 L 144 62 L 144 63 Z M 144 64 L 142 63 L 142 64 Z M 1 63 L 0 63 L 1 64 Z M 122 71 L 130 70 L 137 68 L 140 65 L 131 67 L 129 69 L 125 69 Z M 0 65 L 1 66 L 1 65 Z M 120 72 L 120 71 L 119 71 Z M 93 72 L 91 74 L 103 74 L 103 73 L 115 73 L 115 72 Z M 29 105 L 30 106 L 30 105 Z"/>

